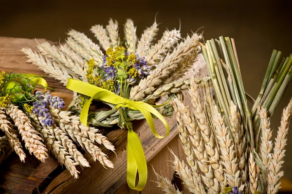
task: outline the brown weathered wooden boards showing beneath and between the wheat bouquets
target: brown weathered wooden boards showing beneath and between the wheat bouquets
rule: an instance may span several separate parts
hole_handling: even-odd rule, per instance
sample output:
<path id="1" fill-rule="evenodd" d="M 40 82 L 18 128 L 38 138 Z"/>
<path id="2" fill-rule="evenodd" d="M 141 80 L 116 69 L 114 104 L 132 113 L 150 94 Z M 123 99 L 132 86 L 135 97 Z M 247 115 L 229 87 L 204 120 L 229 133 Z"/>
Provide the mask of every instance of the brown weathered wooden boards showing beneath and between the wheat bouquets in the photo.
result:
<path id="1" fill-rule="evenodd" d="M 43 41 L 45 40 L 37 40 L 39 43 Z M 0 70 L 45 75 L 36 66 L 26 63 L 24 54 L 19 51 L 23 47 L 32 48 L 37 42 L 34 39 L 0 37 Z M 69 104 L 72 100 L 72 92 L 52 78 L 47 78 L 47 81 L 50 87 L 57 90 L 53 94 L 62 97 L 66 104 Z M 135 131 L 140 136 L 147 161 L 150 161 L 176 136 L 175 119 L 168 118 L 167 121 L 171 131 L 162 140 L 152 134 L 146 121 L 133 123 Z M 160 134 L 164 134 L 165 129 L 160 121 L 155 120 L 155 126 Z M 116 154 L 104 149 L 114 163 L 114 169 L 105 169 L 100 163 L 93 162 L 88 153 L 84 153 L 91 167 L 79 169 L 80 178 L 74 179 L 67 170 L 62 170 L 52 156 L 42 163 L 27 153 L 26 162 L 21 163 L 13 154 L 1 164 L 1 193 L 84 193 L 85 191 L 86 193 L 115 193 L 126 184 L 127 131 L 115 129 L 110 131 L 107 137 L 116 146 Z M 151 173 L 152 168 L 150 166 L 148 168 Z M 149 177 L 152 178 L 151 176 Z"/>

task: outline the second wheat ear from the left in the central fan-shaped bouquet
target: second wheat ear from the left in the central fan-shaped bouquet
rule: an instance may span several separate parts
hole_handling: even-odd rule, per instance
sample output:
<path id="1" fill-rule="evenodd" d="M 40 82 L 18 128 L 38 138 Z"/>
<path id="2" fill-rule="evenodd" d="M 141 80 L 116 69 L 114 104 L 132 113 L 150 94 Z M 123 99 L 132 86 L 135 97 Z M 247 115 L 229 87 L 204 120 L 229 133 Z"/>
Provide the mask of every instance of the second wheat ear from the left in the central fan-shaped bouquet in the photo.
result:
<path id="1" fill-rule="evenodd" d="M 51 45 L 48 42 L 43 42 L 37 46 L 37 49 L 46 57 L 53 59 L 61 67 L 67 68 L 67 71 L 74 77 L 81 81 L 87 81 L 85 72 L 83 71 L 81 65 L 75 63 L 70 56 L 65 55 L 55 45 Z"/>

